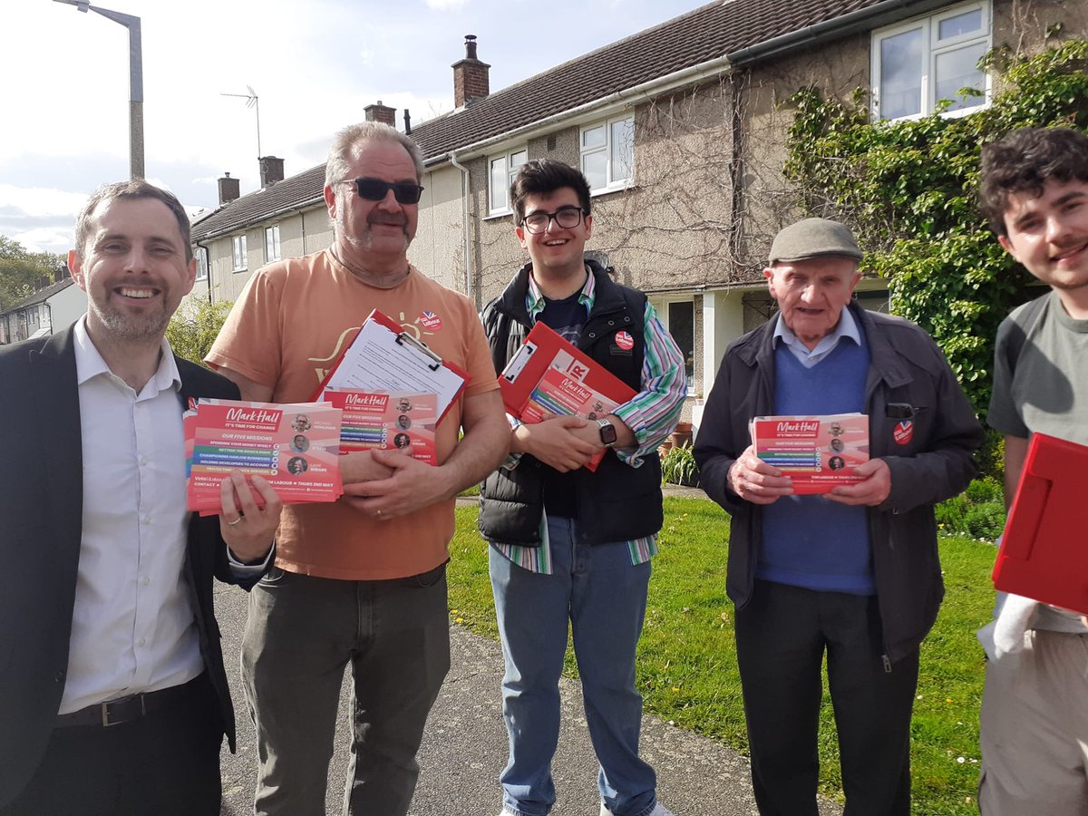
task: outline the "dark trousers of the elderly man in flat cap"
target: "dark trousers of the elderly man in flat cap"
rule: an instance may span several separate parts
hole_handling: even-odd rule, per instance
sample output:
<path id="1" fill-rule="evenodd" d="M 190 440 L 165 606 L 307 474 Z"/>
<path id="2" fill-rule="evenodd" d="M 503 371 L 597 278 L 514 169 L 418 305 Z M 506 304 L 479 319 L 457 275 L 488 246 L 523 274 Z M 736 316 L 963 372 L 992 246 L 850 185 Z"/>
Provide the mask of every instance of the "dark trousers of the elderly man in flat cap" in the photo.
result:
<path id="1" fill-rule="evenodd" d="M 763 816 L 816 816 L 820 666 L 839 732 L 845 816 L 907 816 L 918 651 L 881 657 L 875 596 L 756 581 L 737 610 L 752 782 Z"/>

